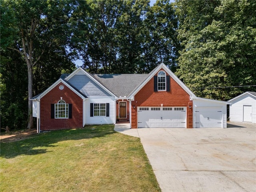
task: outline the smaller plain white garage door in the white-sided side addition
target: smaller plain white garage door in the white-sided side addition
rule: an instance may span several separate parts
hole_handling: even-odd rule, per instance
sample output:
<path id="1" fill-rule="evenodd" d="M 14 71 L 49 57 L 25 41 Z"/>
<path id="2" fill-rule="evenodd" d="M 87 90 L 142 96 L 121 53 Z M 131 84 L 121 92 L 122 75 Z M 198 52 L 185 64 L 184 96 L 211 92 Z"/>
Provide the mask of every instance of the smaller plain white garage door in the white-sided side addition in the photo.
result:
<path id="1" fill-rule="evenodd" d="M 222 128 L 222 107 L 196 107 L 196 128 Z"/>

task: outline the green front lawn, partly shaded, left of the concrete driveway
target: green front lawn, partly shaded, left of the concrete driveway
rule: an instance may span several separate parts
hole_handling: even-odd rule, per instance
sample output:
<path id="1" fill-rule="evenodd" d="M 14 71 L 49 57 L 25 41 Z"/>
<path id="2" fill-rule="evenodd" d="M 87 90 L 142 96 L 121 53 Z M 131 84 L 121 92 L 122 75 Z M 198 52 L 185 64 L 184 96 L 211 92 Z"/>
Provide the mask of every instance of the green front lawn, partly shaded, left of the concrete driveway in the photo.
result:
<path id="1" fill-rule="evenodd" d="M 114 125 L 1 143 L 1 192 L 161 191 L 140 139 Z"/>

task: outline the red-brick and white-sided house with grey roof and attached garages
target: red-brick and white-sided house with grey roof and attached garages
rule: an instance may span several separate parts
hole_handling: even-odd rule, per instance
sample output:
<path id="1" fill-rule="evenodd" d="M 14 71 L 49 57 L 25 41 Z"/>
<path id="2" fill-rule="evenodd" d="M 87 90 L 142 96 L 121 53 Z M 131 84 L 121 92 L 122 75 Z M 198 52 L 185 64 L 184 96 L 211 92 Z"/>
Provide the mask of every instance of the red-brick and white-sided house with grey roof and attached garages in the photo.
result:
<path id="1" fill-rule="evenodd" d="M 77 68 L 32 98 L 38 132 L 130 121 L 130 128 L 226 128 L 225 101 L 199 98 L 165 65 L 149 74 Z"/>

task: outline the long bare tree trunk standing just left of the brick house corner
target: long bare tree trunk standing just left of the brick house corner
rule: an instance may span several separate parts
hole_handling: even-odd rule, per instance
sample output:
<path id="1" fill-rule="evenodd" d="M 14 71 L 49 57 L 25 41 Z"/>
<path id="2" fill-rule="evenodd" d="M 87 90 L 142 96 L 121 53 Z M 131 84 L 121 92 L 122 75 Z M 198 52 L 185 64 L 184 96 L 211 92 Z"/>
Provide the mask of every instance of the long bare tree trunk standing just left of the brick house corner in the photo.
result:
<path id="1" fill-rule="evenodd" d="M 28 129 L 33 128 L 33 108 L 32 108 L 32 86 L 33 86 L 33 72 L 32 66 L 28 65 Z"/>

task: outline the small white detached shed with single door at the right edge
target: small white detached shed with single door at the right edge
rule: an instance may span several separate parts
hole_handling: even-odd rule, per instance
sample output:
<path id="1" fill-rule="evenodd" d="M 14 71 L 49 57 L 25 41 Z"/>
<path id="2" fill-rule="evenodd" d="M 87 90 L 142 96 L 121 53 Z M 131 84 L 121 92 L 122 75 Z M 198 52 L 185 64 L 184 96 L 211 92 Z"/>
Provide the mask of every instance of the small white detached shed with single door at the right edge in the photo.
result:
<path id="1" fill-rule="evenodd" d="M 256 92 L 244 92 L 228 102 L 231 122 L 256 123 Z"/>

